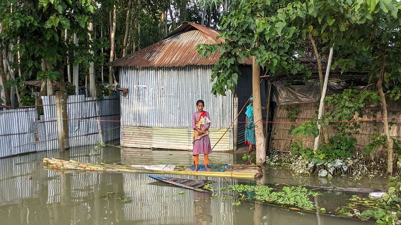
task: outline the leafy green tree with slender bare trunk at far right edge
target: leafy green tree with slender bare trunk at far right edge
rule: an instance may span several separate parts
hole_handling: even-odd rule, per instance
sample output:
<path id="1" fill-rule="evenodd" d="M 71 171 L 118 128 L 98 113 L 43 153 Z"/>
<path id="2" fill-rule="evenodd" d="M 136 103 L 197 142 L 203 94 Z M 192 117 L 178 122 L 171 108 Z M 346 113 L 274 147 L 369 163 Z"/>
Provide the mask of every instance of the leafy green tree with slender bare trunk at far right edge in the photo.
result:
<path id="1" fill-rule="evenodd" d="M 354 67 L 368 71 L 370 81 L 377 85 L 386 138 L 387 171 L 390 173 L 393 170 L 393 140 L 389 133 L 387 99 L 400 96 L 400 8 L 401 2 L 396 0 L 353 2 L 348 16 L 349 28 L 340 40 L 341 59 L 337 63 L 344 69 Z"/>

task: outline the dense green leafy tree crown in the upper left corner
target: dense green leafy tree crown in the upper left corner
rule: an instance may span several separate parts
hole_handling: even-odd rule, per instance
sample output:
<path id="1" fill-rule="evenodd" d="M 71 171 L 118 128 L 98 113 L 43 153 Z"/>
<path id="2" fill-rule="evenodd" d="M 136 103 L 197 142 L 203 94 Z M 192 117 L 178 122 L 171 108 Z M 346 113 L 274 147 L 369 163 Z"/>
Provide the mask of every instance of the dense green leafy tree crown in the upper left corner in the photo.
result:
<path id="1" fill-rule="evenodd" d="M 48 85 L 49 93 L 51 80 L 64 82 L 67 52 L 79 52 L 80 58 L 75 60 L 89 62 L 92 58 L 87 25 L 95 9 L 91 0 L 4 0 L 0 3 L 0 22 L 7 32 L 1 35 L 2 50 L 13 45 L 12 53 L 20 58 L 14 66 L 23 75 L 36 73 L 44 80 L 43 86 Z M 83 40 L 80 47 L 65 39 L 66 30 Z"/>

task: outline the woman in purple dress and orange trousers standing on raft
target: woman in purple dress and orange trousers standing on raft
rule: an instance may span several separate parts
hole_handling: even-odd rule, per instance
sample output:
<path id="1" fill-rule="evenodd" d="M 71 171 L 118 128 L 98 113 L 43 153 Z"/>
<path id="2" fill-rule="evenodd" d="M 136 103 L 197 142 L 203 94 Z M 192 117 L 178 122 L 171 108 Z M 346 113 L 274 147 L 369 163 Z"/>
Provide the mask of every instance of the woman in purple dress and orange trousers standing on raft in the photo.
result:
<path id="1" fill-rule="evenodd" d="M 209 138 L 209 127 L 210 127 L 210 115 L 209 112 L 204 111 L 205 102 L 203 100 L 196 101 L 197 111 L 192 114 L 192 143 L 193 150 L 192 155 L 194 156 L 193 164 L 195 165 L 195 171 L 198 169 L 199 154 L 205 155 L 205 168 L 210 171 L 208 167 L 209 154 L 212 152 L 212 146 Z"/>

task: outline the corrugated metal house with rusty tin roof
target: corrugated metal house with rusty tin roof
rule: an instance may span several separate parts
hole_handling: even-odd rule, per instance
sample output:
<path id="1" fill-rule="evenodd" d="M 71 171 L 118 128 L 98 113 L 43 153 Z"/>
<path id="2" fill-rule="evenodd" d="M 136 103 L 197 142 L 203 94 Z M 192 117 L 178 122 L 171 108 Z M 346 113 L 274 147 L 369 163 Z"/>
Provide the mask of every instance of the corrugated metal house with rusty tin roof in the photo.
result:
<path id="1" fill-rule="evenodd" d="M 211 115 L 212 146 L 217 142 L 237 114 L 234 96 L 240 98 L 240 110 L 241 102 L 252 94 L 250 60 L 241 66 L 242 76 L 235 93 L 211 94 L 212 67 L 220 54 L 203 58 L 195 46 L 216 43 L 219 33 L 184 22 L 161 41 L 112 62 L 118 67 L 120 87 L 128 89 L 128 94 L 121 97 L 121 146 L 192 149 L 191 115 L 198 99 L 205 101 L 205 110 Z M 243 133 L 239 134 L 239 141 L 243 141 Z M 231 127 L 214 150 L 233 150 L 235 135 Z"/>

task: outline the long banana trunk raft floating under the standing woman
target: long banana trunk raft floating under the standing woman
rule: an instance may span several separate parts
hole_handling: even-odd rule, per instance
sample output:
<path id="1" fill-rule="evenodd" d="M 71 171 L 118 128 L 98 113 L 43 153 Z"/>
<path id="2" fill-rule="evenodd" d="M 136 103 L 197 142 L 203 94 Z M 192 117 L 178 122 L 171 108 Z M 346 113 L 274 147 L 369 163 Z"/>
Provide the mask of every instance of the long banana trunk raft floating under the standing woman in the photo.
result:
<path id="1" fill-rule="evenodd" d="M 92 164 L 74 160 L 57 158 L 43 158 L 46 169 L 66 169 L 96 172 L 135 172 L 154 174 L 180 174 L 196 176 L 214 176 L 238 179 L 259 179 L 262 169 L 259 166 L 229 165 L 223 166 L 224 171 L 192 171 L 186 165 L 118 165 L 118 164 Z"/>

